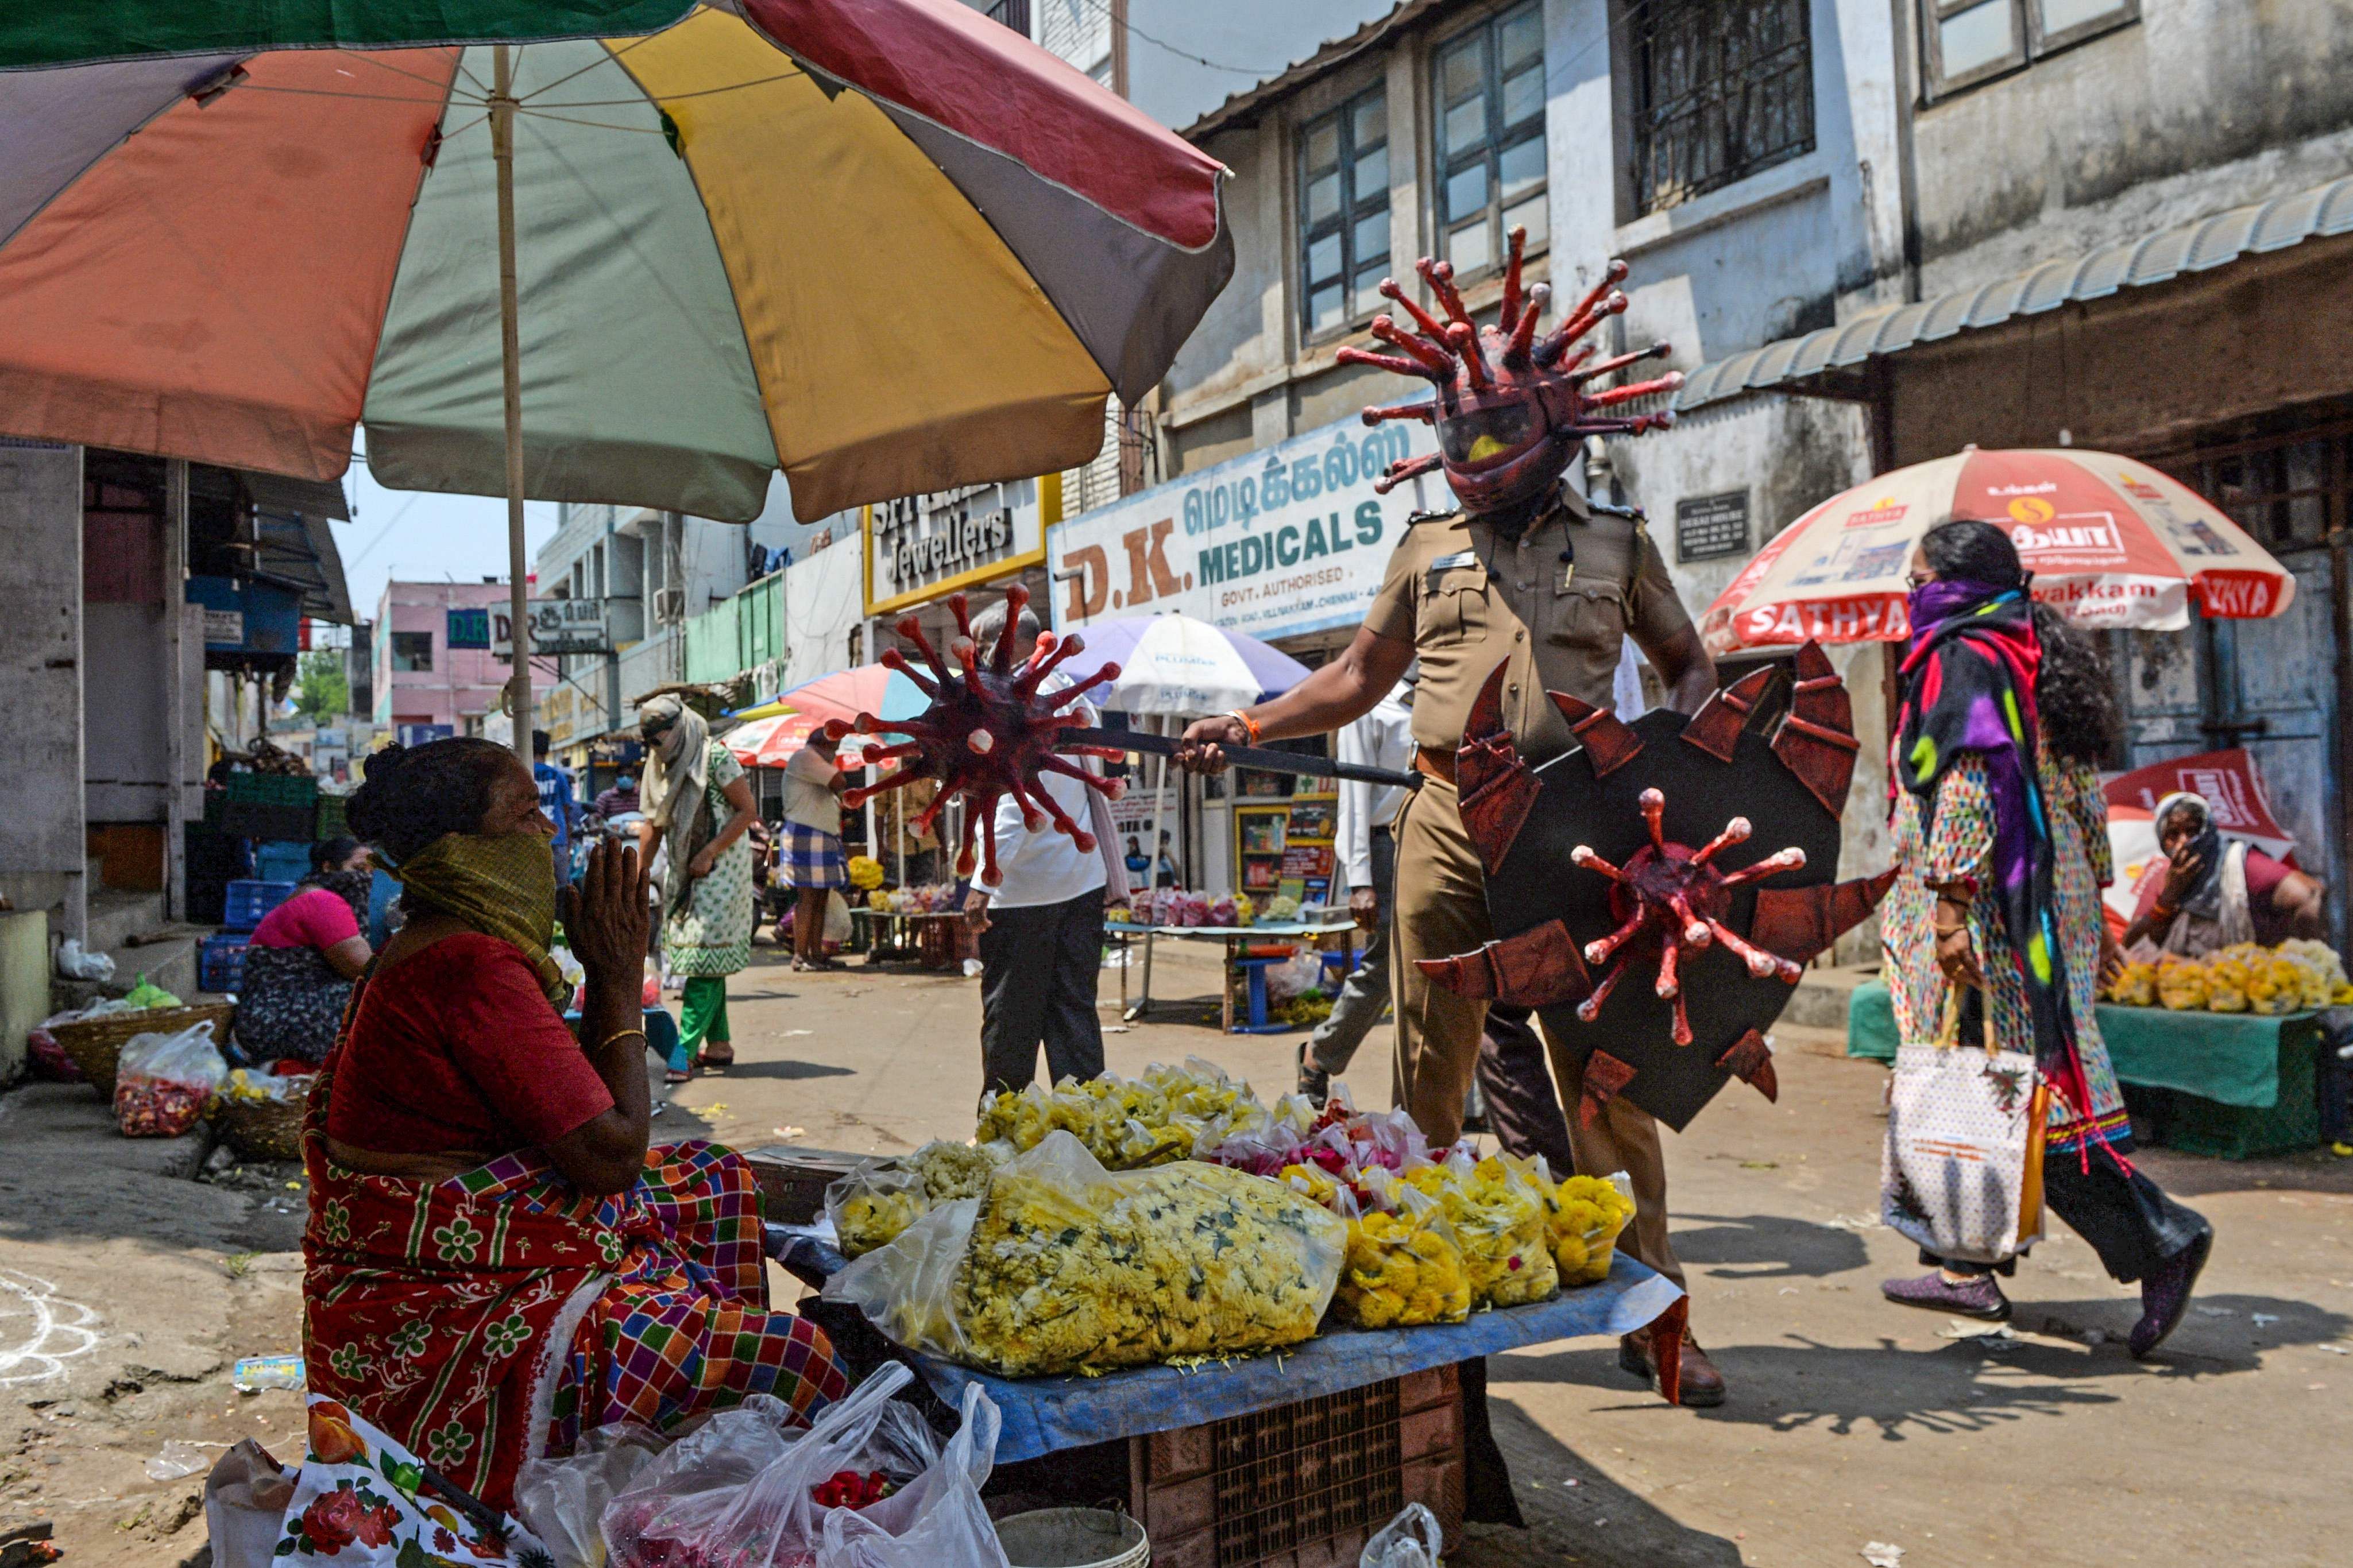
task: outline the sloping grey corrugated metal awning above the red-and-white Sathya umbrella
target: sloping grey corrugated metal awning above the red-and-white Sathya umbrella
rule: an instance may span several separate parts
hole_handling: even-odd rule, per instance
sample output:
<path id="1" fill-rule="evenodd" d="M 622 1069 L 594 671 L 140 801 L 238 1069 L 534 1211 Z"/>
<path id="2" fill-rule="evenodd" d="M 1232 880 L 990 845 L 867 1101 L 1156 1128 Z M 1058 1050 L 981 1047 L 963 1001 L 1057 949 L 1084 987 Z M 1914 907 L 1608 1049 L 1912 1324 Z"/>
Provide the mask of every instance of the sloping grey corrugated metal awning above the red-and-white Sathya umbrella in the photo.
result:
<path id="1" fill-rule="evenodd" d="M 2353 233 L 2353 174 L 2311 190 L 2181 223 L 2141 240 L 2108 244 L 2089 256 L 2045 261 L 2014 277 L 1941 294 L 1913 306 L 1885 306 L 1798 339 L 1715 360 L 1692 371 L 1675 395 L 1678 409 L 1699 409 L 1741 393 L 1762 393 L 1826 369 L 1861 364 L 1913 343 L 1958 331 L 1984 331 L 2019 315 L 2040 315 L 2071 301 L 2146 289 L 2184 273 L 2205 273 L 2240 256 L 2287 249 L 2306 240 Z"/>

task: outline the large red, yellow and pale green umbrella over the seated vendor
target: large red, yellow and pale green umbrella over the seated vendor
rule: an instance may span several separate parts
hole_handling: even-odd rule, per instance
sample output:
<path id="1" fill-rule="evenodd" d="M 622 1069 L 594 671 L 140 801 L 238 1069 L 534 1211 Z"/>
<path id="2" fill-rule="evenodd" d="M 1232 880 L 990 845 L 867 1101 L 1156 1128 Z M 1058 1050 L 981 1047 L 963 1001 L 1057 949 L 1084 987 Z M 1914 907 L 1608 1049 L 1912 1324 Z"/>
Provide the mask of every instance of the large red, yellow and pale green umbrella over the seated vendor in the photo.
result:
<path id="1" fill-rule="evenodd" d="M 802 520 L 1087 461 L 1224 167 L 955 0 L 0 9 L 0 435 Z M 515 738 L 529 682 L 515 682 Z"/>

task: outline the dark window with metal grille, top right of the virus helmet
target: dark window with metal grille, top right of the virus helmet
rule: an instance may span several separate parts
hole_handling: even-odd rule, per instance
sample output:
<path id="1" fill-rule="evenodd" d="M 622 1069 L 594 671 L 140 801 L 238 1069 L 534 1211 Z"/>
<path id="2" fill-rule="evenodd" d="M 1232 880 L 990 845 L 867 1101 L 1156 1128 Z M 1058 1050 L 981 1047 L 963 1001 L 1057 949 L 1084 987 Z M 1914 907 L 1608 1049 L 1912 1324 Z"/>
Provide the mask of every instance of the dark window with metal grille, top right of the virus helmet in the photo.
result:
<path id="1" fill-rule="evenodd" d="M 1633 212 L 1814 150 L 1809 0 L 1652 0 L 1628 19 Z"/>

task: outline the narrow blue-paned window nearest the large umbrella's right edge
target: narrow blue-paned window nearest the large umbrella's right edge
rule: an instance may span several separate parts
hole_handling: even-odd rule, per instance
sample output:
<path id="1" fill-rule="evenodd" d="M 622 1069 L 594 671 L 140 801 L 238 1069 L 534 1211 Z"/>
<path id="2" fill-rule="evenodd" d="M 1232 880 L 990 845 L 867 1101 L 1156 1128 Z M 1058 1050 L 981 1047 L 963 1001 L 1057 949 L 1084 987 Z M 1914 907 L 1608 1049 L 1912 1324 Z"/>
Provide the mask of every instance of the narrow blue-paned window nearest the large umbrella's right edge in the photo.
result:
<path id="1" fill-rule="evenodd" d="M 1308 336 L 1372 308 L 1388 273 L 1388 92 L 1299 129 L 1299 282 Z"/>

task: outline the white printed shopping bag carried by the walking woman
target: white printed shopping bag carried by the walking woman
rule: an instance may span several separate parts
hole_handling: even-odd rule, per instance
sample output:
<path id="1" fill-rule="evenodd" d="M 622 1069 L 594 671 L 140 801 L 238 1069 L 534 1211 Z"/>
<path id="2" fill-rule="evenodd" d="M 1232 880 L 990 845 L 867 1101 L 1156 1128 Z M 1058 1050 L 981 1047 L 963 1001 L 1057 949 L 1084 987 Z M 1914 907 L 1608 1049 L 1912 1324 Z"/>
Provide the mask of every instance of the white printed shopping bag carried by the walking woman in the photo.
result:
<path id="1" fill-rule="evenodd" d="M 1960 1046 L 1960 987 L 1937 1039 L 1897 1046 L 1880 1218 L 1951 1262 L 2002 1262 L 2042 1239 L 2042 1140 L 2049 1110 L 2035 1058 Z"/>

